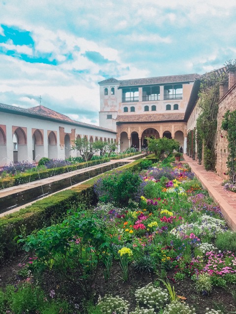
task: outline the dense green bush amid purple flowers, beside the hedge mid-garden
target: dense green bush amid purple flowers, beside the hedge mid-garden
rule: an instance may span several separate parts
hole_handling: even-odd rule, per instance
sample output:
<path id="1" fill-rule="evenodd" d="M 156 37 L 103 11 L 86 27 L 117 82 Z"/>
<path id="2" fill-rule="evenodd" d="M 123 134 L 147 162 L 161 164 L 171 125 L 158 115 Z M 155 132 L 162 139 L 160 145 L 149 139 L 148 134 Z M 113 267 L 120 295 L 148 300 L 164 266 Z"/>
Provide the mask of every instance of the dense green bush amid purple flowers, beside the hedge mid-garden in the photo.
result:
<path id="1" fill-rule="evenodd" d="M 139 200 L 141 183 L 142 180 L 136 173 L 116 171 L 98 179 L 94 190 L 99 201 L 123 207 L 128 205 L 129 199 Z"/>

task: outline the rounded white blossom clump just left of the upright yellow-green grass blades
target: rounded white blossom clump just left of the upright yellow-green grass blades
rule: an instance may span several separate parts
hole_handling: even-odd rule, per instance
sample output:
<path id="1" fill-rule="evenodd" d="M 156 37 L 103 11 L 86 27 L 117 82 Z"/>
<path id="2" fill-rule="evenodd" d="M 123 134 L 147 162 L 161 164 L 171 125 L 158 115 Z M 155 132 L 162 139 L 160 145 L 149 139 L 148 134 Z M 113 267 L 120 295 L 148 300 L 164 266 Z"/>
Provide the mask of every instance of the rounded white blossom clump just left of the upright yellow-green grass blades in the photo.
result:
<path id="1" fill-rule="evenodd" d="M 169 294 L 166 289 L 155 288 L 151 283 L 147 286 L 135 291 L 135 298 L 139 304 L 144 305 L 149 309 L 160 309 L 169 299 Z"/>

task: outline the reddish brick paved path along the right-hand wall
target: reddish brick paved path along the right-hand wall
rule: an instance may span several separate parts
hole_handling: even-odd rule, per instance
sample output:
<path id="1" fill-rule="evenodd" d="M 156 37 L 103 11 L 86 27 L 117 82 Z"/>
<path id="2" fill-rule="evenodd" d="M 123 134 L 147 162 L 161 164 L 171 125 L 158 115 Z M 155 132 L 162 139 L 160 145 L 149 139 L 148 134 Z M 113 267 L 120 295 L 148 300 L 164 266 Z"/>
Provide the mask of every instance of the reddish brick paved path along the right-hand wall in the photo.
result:
<path id="1" fill-rule="evenodd" d="M 202 165 L 187 155 L 183 157 L 203 187 L 208 190 L 209 195 L 219 204 L 230 228 L 236 231 L 236 193 L 225 190 L 221 185 L 223 179 L 213 171 L 205 170 Z"/>

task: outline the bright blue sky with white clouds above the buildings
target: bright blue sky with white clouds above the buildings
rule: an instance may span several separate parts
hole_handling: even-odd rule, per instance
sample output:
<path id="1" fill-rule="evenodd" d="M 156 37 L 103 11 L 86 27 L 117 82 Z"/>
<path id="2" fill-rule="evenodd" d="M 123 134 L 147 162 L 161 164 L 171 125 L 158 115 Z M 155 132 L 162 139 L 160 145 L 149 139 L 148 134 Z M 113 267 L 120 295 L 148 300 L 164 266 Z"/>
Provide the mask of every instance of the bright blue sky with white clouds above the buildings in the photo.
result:
<path id="1" fill-rule="evenodd" d="M 236 58 L 235 0 L 0 0 L 0 103 L 98 125 L 98 82 Z"/>

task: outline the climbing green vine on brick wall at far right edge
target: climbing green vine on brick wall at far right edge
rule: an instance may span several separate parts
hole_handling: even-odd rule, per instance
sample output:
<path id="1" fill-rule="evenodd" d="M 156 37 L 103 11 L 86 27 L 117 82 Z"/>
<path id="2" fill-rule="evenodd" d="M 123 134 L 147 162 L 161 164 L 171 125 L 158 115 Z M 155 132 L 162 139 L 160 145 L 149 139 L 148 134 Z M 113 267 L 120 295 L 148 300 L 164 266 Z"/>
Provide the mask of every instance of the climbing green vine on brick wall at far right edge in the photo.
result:
<path id="1" fill-rule="evenodd" d="M 228 110 L 225 113 L 221 128 L 227 131 L 229 152 L 227 167 L 230 180 L 236 183 L 236 110 L 232 112 Z"/>

